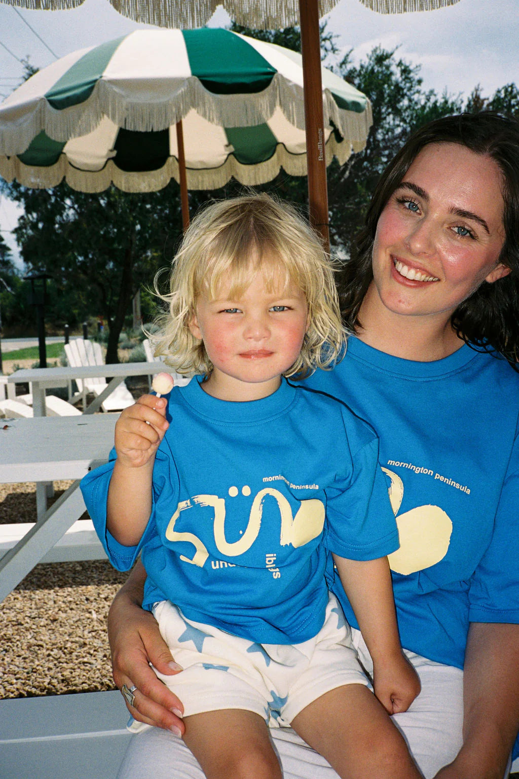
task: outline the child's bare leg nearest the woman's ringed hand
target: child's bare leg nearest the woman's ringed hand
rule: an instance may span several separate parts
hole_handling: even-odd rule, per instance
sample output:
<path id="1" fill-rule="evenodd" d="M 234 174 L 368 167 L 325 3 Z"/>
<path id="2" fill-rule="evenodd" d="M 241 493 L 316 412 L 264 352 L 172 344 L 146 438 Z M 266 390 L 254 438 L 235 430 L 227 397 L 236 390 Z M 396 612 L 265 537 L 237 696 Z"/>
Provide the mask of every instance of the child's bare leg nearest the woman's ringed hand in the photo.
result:
<path id="1" fill-rule="evenodd" d="M 253 711 L 223 709 L 184 717 L 184 742 L 206 779 L 282 779 L 265 720 Z"/>

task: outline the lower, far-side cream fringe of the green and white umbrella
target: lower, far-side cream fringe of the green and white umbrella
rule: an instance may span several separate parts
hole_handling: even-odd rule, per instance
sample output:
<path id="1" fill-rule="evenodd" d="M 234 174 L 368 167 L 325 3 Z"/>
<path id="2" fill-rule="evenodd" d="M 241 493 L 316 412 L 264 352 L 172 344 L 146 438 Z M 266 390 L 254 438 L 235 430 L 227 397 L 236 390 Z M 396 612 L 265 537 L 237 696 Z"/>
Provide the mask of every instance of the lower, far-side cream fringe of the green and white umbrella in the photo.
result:
<path id="1" fill-rule="evenodd" d="M 351 144 L 343 140 L 338 143 L 332 133 L 325 146 L 326 164 L 329 165 L 333 157 L 336 157 L 342 165 L 349 159 L 352 151 L 359 152 L 364 146 L 365 142 L 362 141 Z M 291 154 L 280 143 L 269 160 L 253 165 L 241 164 L 230 154 L 218 168 L 188 169 L 188 189 L 219 189 L 232 177 L 245 186 L 265 184 L 272 181 L 281 168 L 289 175 L 306 175 L 306 153 Z M 61 154 L 58 162 L 49 167 L 32 167 L 24 165 L 18 157 L 8 159 L 0 156 L 0 175 L 7 182 L 16 179 L 23 186 L 33 189 L 50 189 L 65 179 L 72 189 L 91 193 L 103 192 L 112 183 L 124 192 L 156 192 L 167 186 L 172 178 L 177 182 L 179 178 L 175 157 L 170 157 L 157 171 L 131 173 L 121 171 L 112 160 L 108 160 L 101 171 L 79 171 L 68 163 L 65 154 Z"/>

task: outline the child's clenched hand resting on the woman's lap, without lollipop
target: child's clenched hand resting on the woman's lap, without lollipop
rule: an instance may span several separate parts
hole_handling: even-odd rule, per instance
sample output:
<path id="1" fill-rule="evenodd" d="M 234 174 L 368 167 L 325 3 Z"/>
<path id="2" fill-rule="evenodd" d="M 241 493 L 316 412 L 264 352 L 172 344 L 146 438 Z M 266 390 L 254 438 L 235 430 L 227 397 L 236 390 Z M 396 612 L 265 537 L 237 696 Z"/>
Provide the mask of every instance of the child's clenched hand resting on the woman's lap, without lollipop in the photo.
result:
<path id="1" fill-rule="evenodd" d="M 405 654 L 373 663 L 373 688 L 388 714 L 407 711 L 419 694 L 419 676 Z"/>

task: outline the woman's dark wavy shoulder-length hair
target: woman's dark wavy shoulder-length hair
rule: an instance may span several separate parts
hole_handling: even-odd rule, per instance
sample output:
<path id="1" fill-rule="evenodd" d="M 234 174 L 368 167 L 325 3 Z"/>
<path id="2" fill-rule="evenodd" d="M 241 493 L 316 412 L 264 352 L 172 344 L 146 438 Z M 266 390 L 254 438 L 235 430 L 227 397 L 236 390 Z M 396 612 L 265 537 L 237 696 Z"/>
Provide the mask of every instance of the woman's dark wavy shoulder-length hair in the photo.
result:
<path id="1" fill-rule="evenodd" d="M 517 369 L 519 361 L 519 122 L 493 111 L 436 119 L 416 130 L 380 177 L 363 230 L 345 263 L 339 281 L 345 326 L 354 332 L 362 323 L 359 308 L 373 280 L 373 240 L 380 213 L 402 182 L 413 160 L 430 143 L 459 143 L 491 157 L 503 176 L 505 241 L 500 263 L 510 273 L 493 284 L 484 281 L 454 311 L 458 336 L 482 351 L 499 352 Z"/>

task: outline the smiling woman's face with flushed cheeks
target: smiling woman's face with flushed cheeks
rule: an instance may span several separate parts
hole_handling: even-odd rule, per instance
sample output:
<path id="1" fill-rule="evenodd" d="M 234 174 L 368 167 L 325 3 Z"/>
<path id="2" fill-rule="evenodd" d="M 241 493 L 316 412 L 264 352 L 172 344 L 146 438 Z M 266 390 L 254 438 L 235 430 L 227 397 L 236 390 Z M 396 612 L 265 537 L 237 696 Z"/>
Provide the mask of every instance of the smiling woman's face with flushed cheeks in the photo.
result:
<path id="1" fill-rule="evenodd" d="M 371 305 L 447 322 L 484 280 L 507 275 L 501 188 L 490 157 L 457 143 L 425 146 L 380 214 Z"/>

